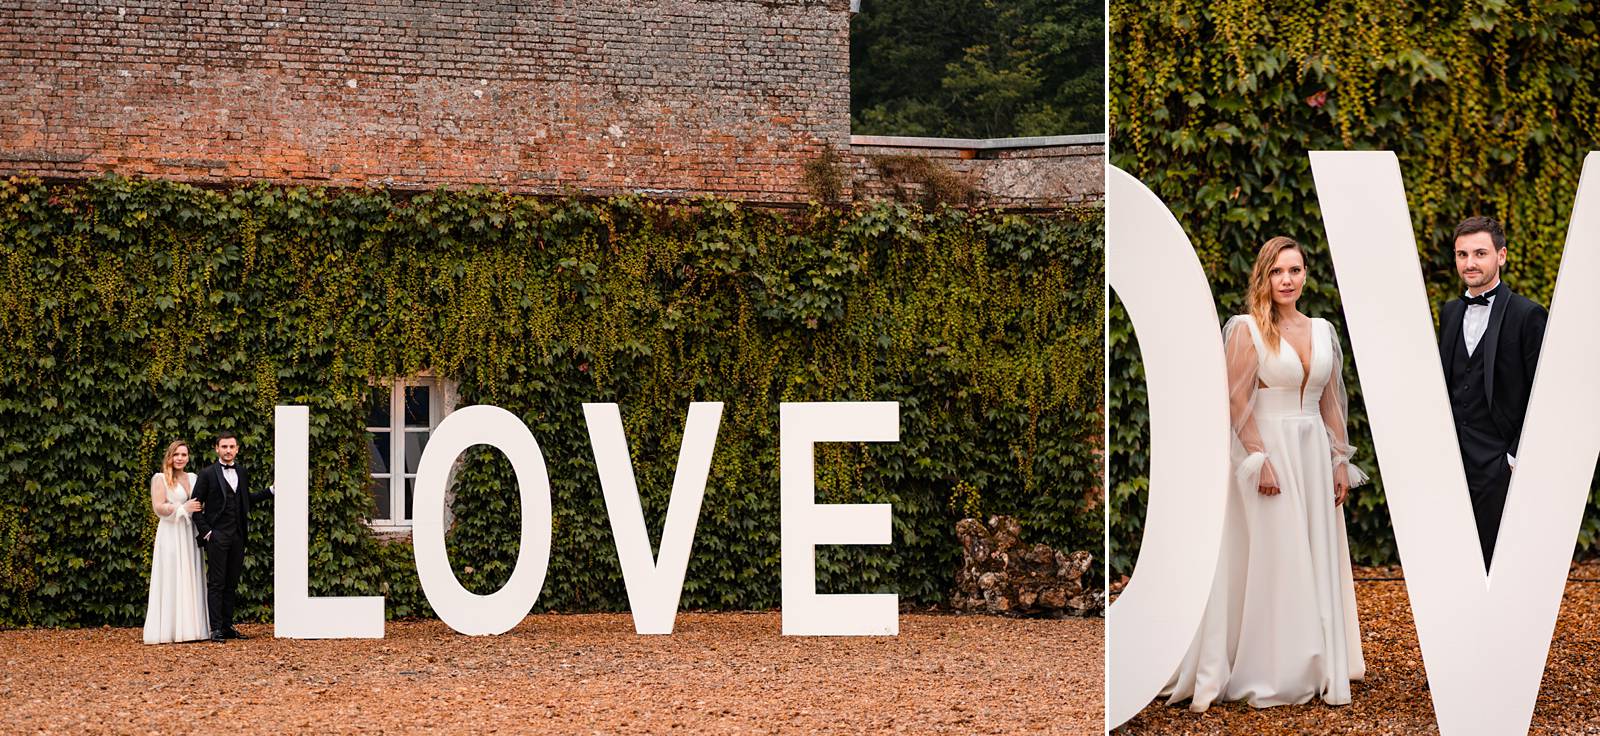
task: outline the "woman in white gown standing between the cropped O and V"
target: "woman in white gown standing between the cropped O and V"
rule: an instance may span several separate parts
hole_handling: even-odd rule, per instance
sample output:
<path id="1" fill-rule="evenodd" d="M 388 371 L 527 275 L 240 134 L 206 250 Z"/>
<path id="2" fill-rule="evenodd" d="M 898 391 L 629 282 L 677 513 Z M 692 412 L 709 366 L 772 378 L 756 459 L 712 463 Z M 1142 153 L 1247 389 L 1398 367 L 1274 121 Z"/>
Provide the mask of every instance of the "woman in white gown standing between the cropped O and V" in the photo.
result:
<path id="1" fill-rule="evenodd" d="M 1227 320 L 1234 482 L 1211 597 L 1163 694 L 1200 712 L 1350 702 L 1366 672 L 1344 504 L 1350 464 L 1344 355 L 1333 325 L 1296 309 L 1299 243 L 1275 237 L 1250 274 L 1250 314 Z"/>

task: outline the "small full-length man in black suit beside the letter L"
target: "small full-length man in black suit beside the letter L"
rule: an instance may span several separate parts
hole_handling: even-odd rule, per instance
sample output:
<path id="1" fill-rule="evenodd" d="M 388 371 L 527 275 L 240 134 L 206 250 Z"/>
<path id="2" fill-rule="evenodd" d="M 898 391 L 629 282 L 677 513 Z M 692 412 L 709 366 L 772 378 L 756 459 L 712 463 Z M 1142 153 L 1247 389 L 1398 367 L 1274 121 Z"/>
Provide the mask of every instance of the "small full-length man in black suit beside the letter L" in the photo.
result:
<path id="1" fill-rule="evenodd" d="M 211 613 L 211 640 L 245 638 L 234 629 L 234 597 L 245 570 L 250 542 L 250 504 L 272 498 L 272 488 L 251 493 L 250 474 L 235 464 L 238 437 L 222 432 L 216 438 L 216 462 L 200 470 L 194 499 L 202 510 L 194 515 L 195 541 L 206 549 L 206 606 Z"/>

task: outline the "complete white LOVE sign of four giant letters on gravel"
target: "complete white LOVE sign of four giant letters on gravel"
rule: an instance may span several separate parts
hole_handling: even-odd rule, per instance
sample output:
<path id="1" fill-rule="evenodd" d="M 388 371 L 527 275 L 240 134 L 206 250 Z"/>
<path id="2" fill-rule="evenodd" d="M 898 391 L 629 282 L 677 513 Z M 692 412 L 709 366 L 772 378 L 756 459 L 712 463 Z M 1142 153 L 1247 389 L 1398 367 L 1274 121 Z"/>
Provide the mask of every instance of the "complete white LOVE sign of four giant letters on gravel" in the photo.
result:
<path id="1" fill-rule="evenodd" d="M 690 405 L 678 450 L 661 550 L 650 552 L 645 512 L 614 403 L 586 403 L 600 488 L 616 538 L 622 581 L 638 634 L 672 634 L 688 570 L 722 403 Z M 310 408 L 278 406 L 274 456 L 274 635 L 285 638 L 382 638 L 384 598 L 312 597 L 307 571 Z M 899 598 L 893 594 L 816 592 L 818 544 L 890 544 L 890 504 L 818 504 L 813 445 L 819 442 L 899 442 L 899 403 L 821 402 L 778 408 L 782 629 L 786 635 L 894 635 Z M 510 579 L 477 595 L 456 579 L 445 552 L 445 486 L 450 466 L 474 445 L 510 461 L 522 499 L 522 544 Z M 413 546 L 416 573 L 434 611 L 461 634 L 504 634 L 539 598 L 550 562 L 550 477 L 539 442 L 515 414 L 467 406 L 440 422 L 418 466 Z"/>

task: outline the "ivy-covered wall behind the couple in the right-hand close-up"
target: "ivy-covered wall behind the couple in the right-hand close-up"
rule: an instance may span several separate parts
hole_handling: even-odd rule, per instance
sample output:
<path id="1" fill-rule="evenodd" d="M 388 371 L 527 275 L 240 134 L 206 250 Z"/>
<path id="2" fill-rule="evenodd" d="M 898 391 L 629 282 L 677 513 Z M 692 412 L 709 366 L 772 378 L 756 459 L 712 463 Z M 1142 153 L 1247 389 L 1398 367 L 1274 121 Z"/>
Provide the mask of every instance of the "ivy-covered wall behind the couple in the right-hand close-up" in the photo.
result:
<path id="1" fill-rule="evenodd" d="M 1600 144 L 1597 18 L 1592 2 L 1112 0 L 1110 160 L 1189 232 L 1219 318 L 1245 310 L 1256 248 L 1290 235 L 1309 250 L 1301 309 L 1344 333 L 1307 150 L 1395 152 L 1435 317 L 1459 290 L 1450 234 L 1470 214 L 1506 226 L 1506 282 L 1549 304 L 1582 158 Z M 1109 342 L 1110 565 L 1125 574 L 1149 414 L 1115 299 Z M 1349 362 L 1346 382 L 1357 462 L 1376 470 Z M 1357 562 L 1395 562 L 1382 478 L 1346 509 Z M 1600 544 L 1597 509 L 1592 494 L 1579 552 Z"/>

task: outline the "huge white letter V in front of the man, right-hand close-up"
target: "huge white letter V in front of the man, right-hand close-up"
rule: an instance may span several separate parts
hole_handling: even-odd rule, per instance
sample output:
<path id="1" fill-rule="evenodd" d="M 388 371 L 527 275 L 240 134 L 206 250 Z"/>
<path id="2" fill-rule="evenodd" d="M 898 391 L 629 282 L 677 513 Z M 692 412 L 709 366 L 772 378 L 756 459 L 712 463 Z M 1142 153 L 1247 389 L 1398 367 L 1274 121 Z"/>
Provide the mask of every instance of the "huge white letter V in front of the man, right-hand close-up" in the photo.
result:
<path id="1" fill-rule="evenodd" d="M 1578 184 L 1488 579 L 1400 165 L 1387 150 L 1310 165 L 1438 730 L 1525 733 L 1600 453 L 1600 154 Z"/>

